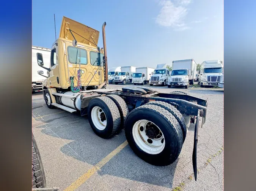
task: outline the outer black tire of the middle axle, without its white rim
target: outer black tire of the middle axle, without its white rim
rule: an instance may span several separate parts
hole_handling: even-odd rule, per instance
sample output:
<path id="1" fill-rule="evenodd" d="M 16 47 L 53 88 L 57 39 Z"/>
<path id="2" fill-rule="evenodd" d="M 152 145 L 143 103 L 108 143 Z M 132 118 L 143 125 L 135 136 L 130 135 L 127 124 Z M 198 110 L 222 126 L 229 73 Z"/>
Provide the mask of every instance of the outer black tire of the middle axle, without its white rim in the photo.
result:
<path id="1" fill-rule="evenodd" d="M 105 113 L 107 125 L 103 130 L 99 130 L 98 128 L 96 128 L 96 126 L 93 123 L 91 111 L 95 106 L 100 107 Z M 91 128 L 97 136 L 104 139 L 108 139 L 114 136 L 117 132 L 119 132 L 121 116 L 115 102 L 109 97 L 102 96 L 92 99 L 88 104 L 87 112 Z"/>

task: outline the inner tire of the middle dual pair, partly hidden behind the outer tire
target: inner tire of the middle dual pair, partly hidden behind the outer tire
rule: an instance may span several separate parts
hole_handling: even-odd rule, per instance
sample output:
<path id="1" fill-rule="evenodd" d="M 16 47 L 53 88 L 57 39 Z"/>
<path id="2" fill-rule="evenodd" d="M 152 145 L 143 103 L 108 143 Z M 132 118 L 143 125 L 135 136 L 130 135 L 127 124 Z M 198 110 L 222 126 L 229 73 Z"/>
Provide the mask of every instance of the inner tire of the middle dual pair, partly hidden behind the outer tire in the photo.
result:
<path id="1" fill-rule="evenodd" d="M 110 99 L 112 99 L 115 102 L 116 106 L 118 107 L 120 117 L 121 117 L 120 129 L 123 129 L 126 117 L 129 114 L 129 109 L 128 109 L 128 106 L 126 105 L 126 102 L 119 95 L 114 95 L 114 94 L 106 95 L 106 97 L 109 97 Z"/>

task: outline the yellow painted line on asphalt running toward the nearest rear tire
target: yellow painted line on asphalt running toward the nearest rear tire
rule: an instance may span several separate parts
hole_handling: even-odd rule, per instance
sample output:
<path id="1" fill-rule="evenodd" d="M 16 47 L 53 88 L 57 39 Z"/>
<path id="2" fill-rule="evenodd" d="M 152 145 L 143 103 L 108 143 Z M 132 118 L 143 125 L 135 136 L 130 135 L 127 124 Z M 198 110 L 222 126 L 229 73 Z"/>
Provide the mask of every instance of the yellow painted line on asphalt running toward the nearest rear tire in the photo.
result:
<path id="1" fill-rule="evenodd" d="M 120 152 L 124 147 L 128 145 L 127 140 L 123 142 L 121 145 L 118 146 L 115 150 L 110 152 L 108 156 L 106 156 L 104 159 L 102 159 L 99 163 L 97 163 L 95 166 L 90 168 L 85 174 L 80 176 L 77 180 L 75 180 L 68 188 L 64 189 L 64 191 L 74 191 L 79 186 L 81 186 L 86 180 L 88 180 L 93 174 L 95 174 L 99 169 L 102 168 L 110 159 L 112 159 L 118 152 Z"/>

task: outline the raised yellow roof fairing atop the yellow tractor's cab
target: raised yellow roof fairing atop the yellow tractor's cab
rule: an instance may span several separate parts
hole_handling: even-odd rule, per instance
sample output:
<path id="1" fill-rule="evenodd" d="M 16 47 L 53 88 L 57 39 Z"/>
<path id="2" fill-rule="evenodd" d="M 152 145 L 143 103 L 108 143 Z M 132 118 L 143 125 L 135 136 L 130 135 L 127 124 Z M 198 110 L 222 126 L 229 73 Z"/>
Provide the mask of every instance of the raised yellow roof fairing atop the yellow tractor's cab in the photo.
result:
<path id="1" fill-rule="evenodd" d="M 71 32 L 74 35 L 75 40 L 77 40 L 77 43 L 97 47 L 99 31 L 75 20 L 72 20 L 71 18 L 63 17 L 59 39 L 66 39 L 68 41 L 74 40 Z"/>

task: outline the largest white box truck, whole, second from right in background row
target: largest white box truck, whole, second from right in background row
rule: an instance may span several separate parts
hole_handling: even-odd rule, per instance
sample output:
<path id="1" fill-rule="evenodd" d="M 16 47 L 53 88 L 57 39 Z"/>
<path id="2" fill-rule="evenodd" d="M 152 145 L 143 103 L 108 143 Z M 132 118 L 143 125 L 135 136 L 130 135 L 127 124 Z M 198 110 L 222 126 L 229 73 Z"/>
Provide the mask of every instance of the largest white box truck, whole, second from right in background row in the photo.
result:
<path id="1" fill-rule="evenodd" d="M 193 85 L 196 80 L 196 62 L 194 59 L 176 60 L 173 61 L 173 71 L 168 78 L 168 88 L 174 86 L 185 86 L 187 89 L 189 85 Z"/>

